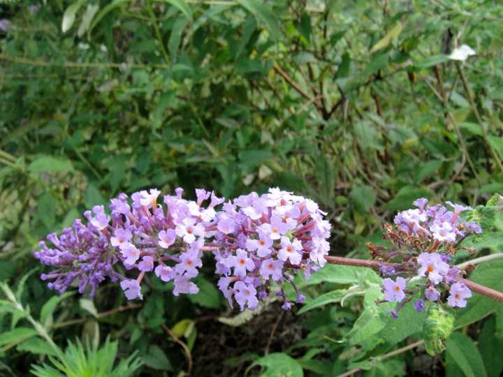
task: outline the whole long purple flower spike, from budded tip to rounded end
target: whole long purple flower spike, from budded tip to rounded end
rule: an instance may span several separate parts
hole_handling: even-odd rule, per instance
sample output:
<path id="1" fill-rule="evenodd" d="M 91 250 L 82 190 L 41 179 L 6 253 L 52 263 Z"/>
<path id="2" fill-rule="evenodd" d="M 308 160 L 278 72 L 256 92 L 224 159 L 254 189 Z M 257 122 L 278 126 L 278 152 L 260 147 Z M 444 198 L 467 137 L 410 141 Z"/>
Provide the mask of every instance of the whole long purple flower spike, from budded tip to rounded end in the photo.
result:
<path id="1" fill-rule="evenodd" d="M 61 235 L 48 235 L 50 246 L 41 242 L 34 256 L 54 269 L 41 278 L 52 280 L 49 288 L 59 293 L 77 281 L 80 293 L 90 287 L 94 295 L 108 277 L 120 281 L 129 300 L 142 300 L 141 283 L 153 272 L 173 281 L 174 295 L 195 294 L 192 279 L 206 252 L 214 255 L 219 288 L 231 304 L 255 309 L 275 283 L 289 309 L 284 283 L 292 283 L 294 272 L 309 276 L 326 263 L 330 224 L 312 200 L 271 188 L 226 202 L 217 212 L 224 199 L 214 193 L 198 189 L 194 201 L 182 198 L 182 188 L 175 192 L 163 197 L 163 205 L 156 189 L 131 199 L 120 194 L 108 212 L 95 206 L 85 212 L 86 224 L 78 219 Z"/>

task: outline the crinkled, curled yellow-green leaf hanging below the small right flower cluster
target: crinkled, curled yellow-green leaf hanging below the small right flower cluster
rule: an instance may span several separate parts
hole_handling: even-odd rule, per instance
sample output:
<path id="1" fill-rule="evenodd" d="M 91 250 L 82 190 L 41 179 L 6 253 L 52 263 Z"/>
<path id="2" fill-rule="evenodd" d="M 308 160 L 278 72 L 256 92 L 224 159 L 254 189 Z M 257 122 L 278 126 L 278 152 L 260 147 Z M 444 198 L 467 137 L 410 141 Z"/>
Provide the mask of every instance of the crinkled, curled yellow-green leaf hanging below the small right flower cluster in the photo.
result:
<path id="1" fill-rule="evenodd" d="M 435 356 L 444 349 L 444 341 L 449 337 L 454 328 L 454 316 L 442 309 L 442 306 L 431 304 L 428 316 L 423 324 L 423 337 L 426 352 Z"/>

